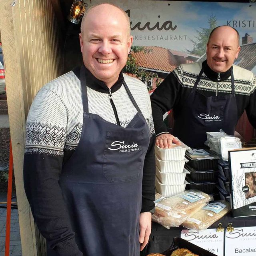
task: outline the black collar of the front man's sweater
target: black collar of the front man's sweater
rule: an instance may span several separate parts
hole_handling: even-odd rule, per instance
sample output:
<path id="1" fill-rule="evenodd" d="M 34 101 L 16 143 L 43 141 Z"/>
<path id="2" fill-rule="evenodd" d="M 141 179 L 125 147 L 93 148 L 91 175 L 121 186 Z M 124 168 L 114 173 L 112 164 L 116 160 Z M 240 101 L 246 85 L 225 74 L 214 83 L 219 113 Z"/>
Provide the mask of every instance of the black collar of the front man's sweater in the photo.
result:
<path id="1" fill-rule="evenodd" d="M 101 80 L 98 80 L 85 66 L 85 75 L 86 75 L 86 84 L 88 87 L 90 87 L 93 90 L 96 90 L 98 92 L 102 93 L 109 93 L 109 88 L 106 86 L 104 82 Z M 80 67 L 73 68 L 72 70 L 74 74 L 77 76 L 79 80 L 80 79 Z M 117 90 L 120 89 L 124 82 L 124 76 L 122 71 L 119 74 L 118 80 L 113 84 L 111 87 L 111 92 L 116 92 Z"/>

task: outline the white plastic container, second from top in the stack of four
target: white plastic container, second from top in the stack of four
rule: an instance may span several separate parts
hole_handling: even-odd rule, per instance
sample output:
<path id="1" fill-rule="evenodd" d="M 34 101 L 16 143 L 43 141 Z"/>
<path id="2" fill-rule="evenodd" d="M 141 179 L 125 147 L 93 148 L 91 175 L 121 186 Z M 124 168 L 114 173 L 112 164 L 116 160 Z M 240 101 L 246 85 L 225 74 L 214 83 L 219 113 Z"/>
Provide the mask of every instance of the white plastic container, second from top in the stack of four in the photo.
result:
<path id="1" fill-rule="evenodd" d="M 160 172 L 183 172 L 185 163 L 188 162 L 188 159 L 184 158 L 183 160 L 177 161 L 163 161 L 159 160 L 156 155 L 156 166 L 160 170 Z"/>

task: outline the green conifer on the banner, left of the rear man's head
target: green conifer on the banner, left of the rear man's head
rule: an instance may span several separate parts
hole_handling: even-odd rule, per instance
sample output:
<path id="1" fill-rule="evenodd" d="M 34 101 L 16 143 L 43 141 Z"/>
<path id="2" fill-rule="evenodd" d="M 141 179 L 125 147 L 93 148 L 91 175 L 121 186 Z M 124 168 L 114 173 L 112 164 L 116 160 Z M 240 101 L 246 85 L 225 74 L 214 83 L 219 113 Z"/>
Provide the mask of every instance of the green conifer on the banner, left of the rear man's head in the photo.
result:
<path id="1" fill-rule="evenodd" d="M 201 31 L 196 30 L 198 34 L 198 36 L 195 36 L 196 40 L 190 39 L 193 43 L 193 50 L 188 50 L 189 53 L 202 56 L 206 52 L 206 44 L 208 42 L 210 32 L 217 26 L 216 16 L 211 15 L 208 19 L 208 24 L 209 28 L 200 27 Z"/>

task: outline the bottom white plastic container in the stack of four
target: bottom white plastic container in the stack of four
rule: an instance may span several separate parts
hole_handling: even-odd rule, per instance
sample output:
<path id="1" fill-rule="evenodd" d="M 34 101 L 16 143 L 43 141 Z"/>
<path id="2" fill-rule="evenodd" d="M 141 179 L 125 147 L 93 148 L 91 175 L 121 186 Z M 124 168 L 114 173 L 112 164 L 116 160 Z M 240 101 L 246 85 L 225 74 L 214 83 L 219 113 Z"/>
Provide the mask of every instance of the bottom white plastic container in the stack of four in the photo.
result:
<path id="1" fill-rule="evenodd" d="M 185 181 L 184 184 L 166 185 L 162 184 L 157 177 L 155 181 L 156 191 L 163 196 L 175 196 L 185 191 L 186 184 L 188 183 Z"/>

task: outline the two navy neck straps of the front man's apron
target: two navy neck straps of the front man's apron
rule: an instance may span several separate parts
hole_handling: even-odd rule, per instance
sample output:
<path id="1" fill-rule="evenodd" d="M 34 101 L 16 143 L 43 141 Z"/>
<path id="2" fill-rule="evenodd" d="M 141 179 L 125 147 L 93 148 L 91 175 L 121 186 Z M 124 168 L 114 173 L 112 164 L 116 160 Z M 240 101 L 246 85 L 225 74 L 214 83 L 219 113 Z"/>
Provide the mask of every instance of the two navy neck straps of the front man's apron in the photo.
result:
<path id="1" fill-rule="evenodd" d="M 81 90 L 82 90 L 82 103 L 83 103 L 83 109 L 84 112 L 89 112 L 89 107 L 88 107 L 88 96 L 87 96 L 87 88 L 86 88 L 86 76 L 85 76 L 85 68 L 84 65 L 81 66 L 80 68 L 80 79 L 81 79 Z M 130 97 L 134 107 L 136 110 L 141 113 L 140 108 L 138 107 L 136 101 L 134 100 L 126 82 L 123 82 L 124 88 L 126 89 L 126 92 L 128 93 L 128 96 Z"/>

